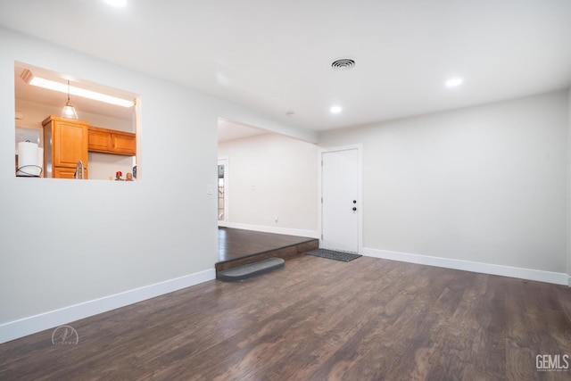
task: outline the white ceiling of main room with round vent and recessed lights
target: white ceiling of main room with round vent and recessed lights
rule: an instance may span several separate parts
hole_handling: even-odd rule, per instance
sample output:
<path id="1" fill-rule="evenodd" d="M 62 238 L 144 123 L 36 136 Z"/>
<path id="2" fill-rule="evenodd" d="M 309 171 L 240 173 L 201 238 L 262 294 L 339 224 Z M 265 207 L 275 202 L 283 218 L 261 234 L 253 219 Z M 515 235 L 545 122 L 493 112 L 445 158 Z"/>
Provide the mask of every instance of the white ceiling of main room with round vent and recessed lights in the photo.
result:
<path id="1" fill-rule="evenodd" d="M 0 25 L 314 130 L 571 85 L 570 0 L 0 0 Z"/>

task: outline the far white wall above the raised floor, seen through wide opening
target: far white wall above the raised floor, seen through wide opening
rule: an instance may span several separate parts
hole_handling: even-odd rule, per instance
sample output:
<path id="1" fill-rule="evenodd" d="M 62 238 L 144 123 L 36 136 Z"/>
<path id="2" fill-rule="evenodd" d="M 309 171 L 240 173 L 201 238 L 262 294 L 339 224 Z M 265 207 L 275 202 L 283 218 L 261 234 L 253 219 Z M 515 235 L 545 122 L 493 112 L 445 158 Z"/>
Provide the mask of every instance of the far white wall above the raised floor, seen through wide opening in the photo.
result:
<path id="1" fill-rule="evenodd" d="M 316 145 L 264 134 L 220 143 L 222 157 L 229 167 L 228 226 L 317 236 Z"/>

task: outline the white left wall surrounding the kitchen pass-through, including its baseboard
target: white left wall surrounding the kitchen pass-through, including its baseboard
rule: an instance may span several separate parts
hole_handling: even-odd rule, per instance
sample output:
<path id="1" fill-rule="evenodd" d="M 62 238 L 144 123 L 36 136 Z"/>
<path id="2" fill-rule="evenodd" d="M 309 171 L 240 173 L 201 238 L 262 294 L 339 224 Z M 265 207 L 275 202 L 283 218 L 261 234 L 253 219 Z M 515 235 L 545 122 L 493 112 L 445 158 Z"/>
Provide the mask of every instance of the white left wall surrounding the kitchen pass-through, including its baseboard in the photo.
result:
<path id="1" fill-rule="evenodd" d="M 218 118 L 264 118 L 6 29 L 0 46 L 0 342 L 212 279 Z M 14 177 L 15 61 L 141 95 L 140 180 Z"/>

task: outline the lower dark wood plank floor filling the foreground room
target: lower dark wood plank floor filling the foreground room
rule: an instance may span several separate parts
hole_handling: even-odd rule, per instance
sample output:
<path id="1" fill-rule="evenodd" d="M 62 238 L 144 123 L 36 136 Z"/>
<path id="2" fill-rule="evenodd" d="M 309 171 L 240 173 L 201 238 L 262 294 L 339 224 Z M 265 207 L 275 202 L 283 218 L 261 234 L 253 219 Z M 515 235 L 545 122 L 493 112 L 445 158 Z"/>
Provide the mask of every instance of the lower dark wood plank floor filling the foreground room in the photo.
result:
<path id="1" fill-rule="evenodd" d="M 255 295 L 255 297 L 252 297 Z M 534 380 L 571 355 L 571 291 L 398 261 L 302 255 L 0 345 L 0 379 Z"/>

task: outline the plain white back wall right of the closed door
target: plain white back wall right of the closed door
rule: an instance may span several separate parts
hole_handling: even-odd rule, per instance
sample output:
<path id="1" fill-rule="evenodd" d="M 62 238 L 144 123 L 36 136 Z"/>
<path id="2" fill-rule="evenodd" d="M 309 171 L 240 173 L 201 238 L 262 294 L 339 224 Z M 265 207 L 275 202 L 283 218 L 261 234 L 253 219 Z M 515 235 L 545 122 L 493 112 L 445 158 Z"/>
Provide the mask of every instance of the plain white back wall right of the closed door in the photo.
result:
<path id="1" fill-rule="evenodd" d="M 368 253 L 565 274 L 567 108 L 560 91 L 323 133 L 319 144 L 363 144 Z"/>

